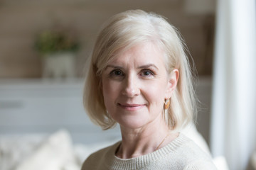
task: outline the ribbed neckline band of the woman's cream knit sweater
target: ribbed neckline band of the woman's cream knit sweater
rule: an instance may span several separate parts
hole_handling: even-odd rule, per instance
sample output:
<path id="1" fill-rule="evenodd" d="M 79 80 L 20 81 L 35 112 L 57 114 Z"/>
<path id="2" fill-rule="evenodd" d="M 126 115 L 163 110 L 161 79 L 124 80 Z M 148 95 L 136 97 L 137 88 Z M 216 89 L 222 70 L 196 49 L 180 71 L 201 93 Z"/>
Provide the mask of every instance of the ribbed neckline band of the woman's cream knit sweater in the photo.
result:
<path id="1" fill-rule="evenodd" d="M 181 145 L 183 145 L 183 143 L 185 143 L 188 140 L 188 137 L 186 137 L 182 133 L 179 133 L 178 137 L 176 137 L 175 140 L 171 141 L 166 146 L 161 147 L 160 149 L 149 154 L 145 154 L 140 157 L 134 157 L 130 159 L 121 159 L 115 156 L 117 147 L 119 147 L 121 143 L 121 141 L 119 141 L 111 147 L 111 153 L 109 155 L 112 155 L 112 157 L 108 159 L 108 161 L 105 163 L 109 167 L 111 167 L 110 169 L 141 169 L 142 167 L 151 164 L 157 159 L 164 157 L 166 154 L 174 152 L 174 150 L 178 149 L 178 147 L 181 147 Z"/>

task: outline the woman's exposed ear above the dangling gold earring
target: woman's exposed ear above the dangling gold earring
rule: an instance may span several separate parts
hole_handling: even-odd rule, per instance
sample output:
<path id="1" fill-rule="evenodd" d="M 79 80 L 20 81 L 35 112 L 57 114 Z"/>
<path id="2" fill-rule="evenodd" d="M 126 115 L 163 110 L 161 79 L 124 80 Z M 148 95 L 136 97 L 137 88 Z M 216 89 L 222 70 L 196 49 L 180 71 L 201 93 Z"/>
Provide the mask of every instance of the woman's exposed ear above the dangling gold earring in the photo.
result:
<path id="1" fill-rule="evenodd" d="M 174 69 L 169 75 L 165 99 L 171 98 L 171 94 L 173 94 L 178 84 L 178 76 L 179 76 L 178 69 Z"/>

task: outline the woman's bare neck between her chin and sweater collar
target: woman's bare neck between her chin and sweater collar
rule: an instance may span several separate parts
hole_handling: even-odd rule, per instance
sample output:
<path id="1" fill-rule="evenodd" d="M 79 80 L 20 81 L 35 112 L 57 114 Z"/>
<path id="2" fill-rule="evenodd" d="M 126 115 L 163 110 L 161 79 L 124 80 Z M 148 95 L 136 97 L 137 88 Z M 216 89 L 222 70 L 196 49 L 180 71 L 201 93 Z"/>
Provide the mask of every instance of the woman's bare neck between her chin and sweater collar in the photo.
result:
<path id="1" fill-rule="evenodd" d="M 164 120 L 154 120 L 142 128 L 130 129 L 121 126 L 122 144 L 117 149 L 116 156 L 122 159 L 139 157 L 164 147 L 174 140 Z M 170 135 L 171 134 L 171 135 Z"/>

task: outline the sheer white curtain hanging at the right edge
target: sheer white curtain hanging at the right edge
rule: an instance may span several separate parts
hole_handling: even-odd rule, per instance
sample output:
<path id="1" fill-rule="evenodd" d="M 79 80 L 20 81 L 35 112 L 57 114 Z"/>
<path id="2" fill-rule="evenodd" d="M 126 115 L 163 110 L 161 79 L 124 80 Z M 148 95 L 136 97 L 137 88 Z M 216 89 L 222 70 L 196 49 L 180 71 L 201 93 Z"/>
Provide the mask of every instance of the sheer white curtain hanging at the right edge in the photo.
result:
<path id="1" fill-rule="evenodd" d="M 256 136 L 255 0 L 218 0 L 210 149 L 246 169 Z"/>

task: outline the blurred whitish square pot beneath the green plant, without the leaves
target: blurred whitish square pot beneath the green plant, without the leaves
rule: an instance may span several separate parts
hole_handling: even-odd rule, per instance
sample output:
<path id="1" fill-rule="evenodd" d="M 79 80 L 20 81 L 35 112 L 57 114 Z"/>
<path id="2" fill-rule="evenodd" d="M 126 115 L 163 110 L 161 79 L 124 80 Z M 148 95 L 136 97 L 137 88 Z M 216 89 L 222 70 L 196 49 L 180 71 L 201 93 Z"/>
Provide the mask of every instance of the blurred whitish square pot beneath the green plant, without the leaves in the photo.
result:
<path id="1" fill-rule="evenodd" d="M 43 78 L 75 77 L 75 53 L 55 52 L 43 57 Z"/>

